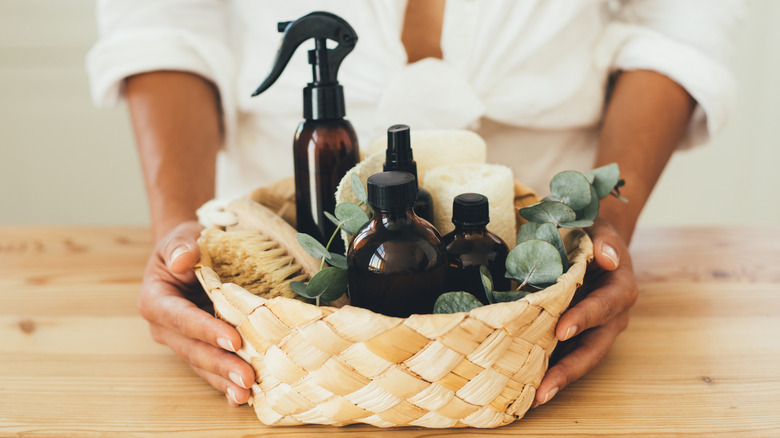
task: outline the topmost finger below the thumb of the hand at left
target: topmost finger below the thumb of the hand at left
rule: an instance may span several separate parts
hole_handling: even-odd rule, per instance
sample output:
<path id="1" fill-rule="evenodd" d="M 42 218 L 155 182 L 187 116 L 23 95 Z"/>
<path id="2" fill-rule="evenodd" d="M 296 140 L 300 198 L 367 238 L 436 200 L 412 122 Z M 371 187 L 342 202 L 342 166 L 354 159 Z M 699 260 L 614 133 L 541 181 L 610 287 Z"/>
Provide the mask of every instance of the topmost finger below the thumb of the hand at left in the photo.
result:
<path id="1" fill-rule="evenodd" d="M 187 338 L 231 352 L 241 348 L 241 335 L 235 328 L 198 308 L 170 284 L 160 281 L 149 284 L 141 292 L 138 307 L 147 321 Z"/>

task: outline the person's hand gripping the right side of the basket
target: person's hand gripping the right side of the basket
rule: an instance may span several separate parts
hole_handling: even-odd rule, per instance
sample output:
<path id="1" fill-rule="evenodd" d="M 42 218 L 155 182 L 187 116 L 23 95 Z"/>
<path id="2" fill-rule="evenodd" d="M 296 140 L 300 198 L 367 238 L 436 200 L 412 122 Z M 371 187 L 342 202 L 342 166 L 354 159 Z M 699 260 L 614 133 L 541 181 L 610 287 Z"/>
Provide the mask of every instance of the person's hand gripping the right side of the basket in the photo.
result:
<path id="1" fill-rule="evenodd" d="M 609 221 L 599 218 L 588 228 L 595 263 L 577 291 L 574 304 L 561 316 L 555 335 L 563 342 L 553 356 L 560 359 L 547 370 L 536 390 L 534 406 L 550 401 L 569 383 L 595 368 L 628 326 L 628 311 L 638 288 L 631 256 Z M 582 298 L 582 293 L 587 295 Z"/>

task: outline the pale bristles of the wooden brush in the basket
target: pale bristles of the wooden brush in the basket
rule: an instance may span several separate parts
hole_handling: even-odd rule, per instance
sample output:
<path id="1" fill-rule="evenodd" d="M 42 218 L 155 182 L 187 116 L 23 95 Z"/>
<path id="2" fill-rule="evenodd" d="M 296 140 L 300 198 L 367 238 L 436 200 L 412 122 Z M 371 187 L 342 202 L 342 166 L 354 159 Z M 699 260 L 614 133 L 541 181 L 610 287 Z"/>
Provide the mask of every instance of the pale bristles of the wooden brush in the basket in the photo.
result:
<path id="1" fill-rule="evenodd" d="M 291 281 L 308 276 L 295 259 L 268 236 L 254 231 L 203 231 L 214 270 L 223 283 L 235 283 L 263 298 L 302 299 L 290 289 Z M 303 299 L 302 299 L 303 300 Z"/>

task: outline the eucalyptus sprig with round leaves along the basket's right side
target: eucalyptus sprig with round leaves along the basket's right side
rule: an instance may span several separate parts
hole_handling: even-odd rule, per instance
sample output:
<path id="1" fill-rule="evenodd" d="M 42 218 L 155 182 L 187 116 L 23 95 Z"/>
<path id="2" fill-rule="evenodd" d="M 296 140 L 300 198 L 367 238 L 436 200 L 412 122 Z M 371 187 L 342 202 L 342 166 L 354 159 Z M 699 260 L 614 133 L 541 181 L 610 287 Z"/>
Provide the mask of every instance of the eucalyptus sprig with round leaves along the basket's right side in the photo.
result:
<path id="1" fill-rule="evenodd" d="M 569 259 L 558 228 L 592 226 L 598 216 L 601 199 L 613 195 L 628 202 L 620 196 L 620 188 L 624 184 L 616 163 L 585 173 L 567 170 L 555 175 L 550 181 L 550 196 L 520 209 L 520 215 L 529 222 L 520 227 L 517 246 L 506 259 L 506 276 L 517 281 L 519 286 L 511 291 L 494 291 L 490 271 L 486 266 L 480 267 L 488 302 L 519 300 L 533 290 L 555 284 L 558 277 L 569 269 Z M 468 312 L 480 306 L 482 303 L 468 292 L 447 292 L 436 300 L 434 313 Z"/>

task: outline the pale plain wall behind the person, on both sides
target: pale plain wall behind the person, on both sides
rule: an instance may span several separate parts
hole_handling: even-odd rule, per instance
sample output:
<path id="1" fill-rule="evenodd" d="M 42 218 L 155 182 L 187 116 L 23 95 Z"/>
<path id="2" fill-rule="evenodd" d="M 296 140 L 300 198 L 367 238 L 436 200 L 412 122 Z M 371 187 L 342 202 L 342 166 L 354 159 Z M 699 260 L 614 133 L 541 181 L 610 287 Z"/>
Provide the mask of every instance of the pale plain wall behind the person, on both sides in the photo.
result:
<path id="1" fill-rule="evenodd" d="M 148 223 L 126 109 L 89 100 L 93 15 L 94 0 L 0 0 L 0 223 Z M 780 0 L 752 3 L 732 121 L 674 156 L 643 224 L 780 224 L 778 23 Z"/>

